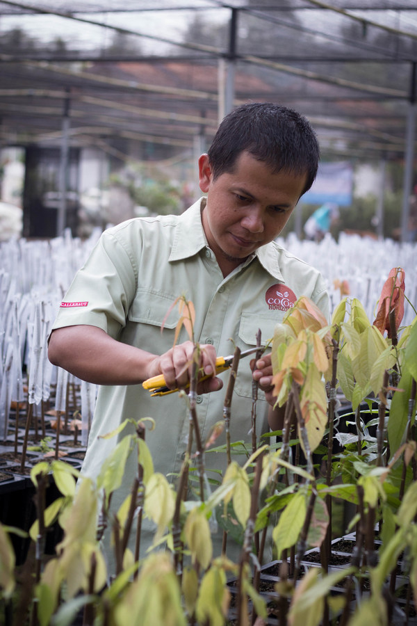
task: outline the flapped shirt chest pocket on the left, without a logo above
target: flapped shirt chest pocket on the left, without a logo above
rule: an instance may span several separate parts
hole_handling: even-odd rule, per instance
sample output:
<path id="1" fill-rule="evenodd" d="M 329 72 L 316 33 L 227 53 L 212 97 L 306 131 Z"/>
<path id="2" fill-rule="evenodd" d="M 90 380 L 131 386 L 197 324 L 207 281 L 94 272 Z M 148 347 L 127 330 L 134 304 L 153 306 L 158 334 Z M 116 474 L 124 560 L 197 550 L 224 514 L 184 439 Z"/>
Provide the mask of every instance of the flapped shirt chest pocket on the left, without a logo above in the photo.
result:
<path id="1" fill-rule="evenodd" d="M 178 306 L 173 306 L 175 300 L 174 296 L 152 289 L 138 289 L 127 315 L 122 341 L 154 354 L 172 348 L 179 322 Z M 184 340 L 181 332 L 179 342 Z"/>

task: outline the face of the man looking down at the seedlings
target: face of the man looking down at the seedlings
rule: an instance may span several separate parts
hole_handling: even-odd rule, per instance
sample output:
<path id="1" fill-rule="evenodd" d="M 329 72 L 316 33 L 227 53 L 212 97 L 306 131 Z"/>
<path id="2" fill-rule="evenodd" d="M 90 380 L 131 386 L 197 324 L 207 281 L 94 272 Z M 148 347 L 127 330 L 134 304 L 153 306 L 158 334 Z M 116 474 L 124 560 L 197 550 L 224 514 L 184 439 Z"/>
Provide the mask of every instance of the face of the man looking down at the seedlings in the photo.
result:
<path id="1" fill-rule="evenodd" d="M 207 194 L 202 223 L 223 275 L 279 235 L 305 183 L 306 174 L 273 174 L 249 152 L 240 154 L 232 172 L 213 180 L 208 156 L 202 154 L 199 186 Z"/>

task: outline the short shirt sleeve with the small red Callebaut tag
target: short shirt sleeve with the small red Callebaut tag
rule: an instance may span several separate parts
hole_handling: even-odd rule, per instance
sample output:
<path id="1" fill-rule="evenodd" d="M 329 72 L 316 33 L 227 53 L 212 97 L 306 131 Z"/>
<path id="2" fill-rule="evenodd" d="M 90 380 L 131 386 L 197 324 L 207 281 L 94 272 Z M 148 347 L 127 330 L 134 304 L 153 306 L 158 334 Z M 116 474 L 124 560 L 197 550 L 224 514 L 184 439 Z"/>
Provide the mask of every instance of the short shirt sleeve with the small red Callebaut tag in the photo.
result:
<path id="1" fill-rule="evenodd" d="M 129 251 L 106 231 L 76 273 L 52 330 L 85 324 L 97 326 L 116 339 L 126 324 L 136 288 L 137 276 Z"/>

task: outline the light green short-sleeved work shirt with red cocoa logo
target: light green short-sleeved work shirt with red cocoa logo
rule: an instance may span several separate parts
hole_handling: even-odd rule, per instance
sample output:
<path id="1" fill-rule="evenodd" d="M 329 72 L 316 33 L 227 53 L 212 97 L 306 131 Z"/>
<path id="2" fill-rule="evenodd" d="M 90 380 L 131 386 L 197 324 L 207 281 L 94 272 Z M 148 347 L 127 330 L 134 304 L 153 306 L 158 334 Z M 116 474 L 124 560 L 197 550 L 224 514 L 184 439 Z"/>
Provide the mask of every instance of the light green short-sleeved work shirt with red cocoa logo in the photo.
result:
<path id="1" fill-rule="evenodd" d="M 314 268 L 289 254 L 277 243 L 268 243 L 246 259 L 226 278 L 208 247 L 201 210 L 206 200 L 195 202 L 181 216 L 136 218 L 112 227 L 101 236 L 83 268 L 76 274 L 61 305 L 53 328 L 87 324 L 98 326 L 120 342 L 162 354 L 174 343 L 179 312 L 167 312 L 174 300 L 185 295 L 195 305 L 195 340 L 213 344 L 218 355 L 229 355 L 271 339 L 296 298 L 309 296 L 328 314 L 325 282 Z M 166 317 L 167 316 L 167 317 Z M 166 318 L 166 319 L 165 319 Z M 163 332 L 161 332 L 163 326 Z M 183 329 L 179 342 L 188 339 Z M 76 349 L 76 346 L 74 346 Z M 117 368 L 117 362 L 111 364 Z M 223 419 L 228 372 L 221 374 L 219 392 L 197 398 L 197 415 L 204 442 L 216 422 Z M 250 358 L 242 360 L 231 403 L 231 442 L 245 440 L 251 449 L 252 374 Z M 262 392 L 256 406 L 256 434 L 268 431 L 268 404 Z M 154 431 L 146 442 L 158 472 L 174 476 L 181 470 L 188 442 L 188 409 L 178 394 L 150 396 L 142 385 L 101 386 L 92 422 L 83 473 L 95 477 L 117 438 L 101 439 L 127 417 L 153 417 Z M 121 435 L 122 436 L 122 435 Z M 224 444 L 220 435 L 215 445 Z M 206 467 L 220 479 L 223 454 L 207 453 Z M 126 495 L 133 482 L 126 476 Z"/>

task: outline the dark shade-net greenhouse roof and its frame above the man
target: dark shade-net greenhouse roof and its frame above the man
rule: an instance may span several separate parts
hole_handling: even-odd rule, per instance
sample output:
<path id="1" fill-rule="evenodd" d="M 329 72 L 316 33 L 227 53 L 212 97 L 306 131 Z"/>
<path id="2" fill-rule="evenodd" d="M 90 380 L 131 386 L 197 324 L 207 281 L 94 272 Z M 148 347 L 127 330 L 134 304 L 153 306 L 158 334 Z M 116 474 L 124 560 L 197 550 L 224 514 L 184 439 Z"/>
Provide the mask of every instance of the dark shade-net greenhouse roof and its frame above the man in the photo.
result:
<path id="1" fill-rule="evenodd" d="M 189 154 L 232 106 L 280 102 L 311 120 L 325 157 L 405 159 L 411 188 L 414 0 L 117 5 L 0 0 L 0 146 L 59 146 L 66 117 L 70 145 Z"/>

